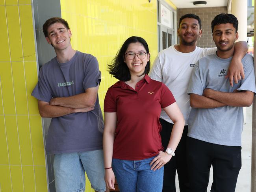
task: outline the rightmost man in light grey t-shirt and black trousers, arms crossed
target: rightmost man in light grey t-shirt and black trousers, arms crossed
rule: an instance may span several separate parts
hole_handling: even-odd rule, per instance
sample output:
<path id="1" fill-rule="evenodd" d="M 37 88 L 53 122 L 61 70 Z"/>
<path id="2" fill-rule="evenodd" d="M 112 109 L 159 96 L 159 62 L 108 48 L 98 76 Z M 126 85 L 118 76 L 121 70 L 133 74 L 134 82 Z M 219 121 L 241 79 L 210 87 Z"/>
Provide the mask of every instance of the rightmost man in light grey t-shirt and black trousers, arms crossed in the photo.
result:
<path id="1" fill-rule="evenodd" d="M 255 88 L 251 55 L 242 59 L 245 78 L 233 87 L 224 78 L 234 55 L 238 21 L 221 13 L 211 22 L 217 52 L 199 59 L 193 70 L 187 94 L 189 114 L 187 162 L 191 192 L 207 190 L 211 164 L 211 191 L 234 192 L 241 168 L 243 107 L 250 106 Z"/>

